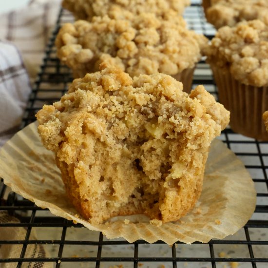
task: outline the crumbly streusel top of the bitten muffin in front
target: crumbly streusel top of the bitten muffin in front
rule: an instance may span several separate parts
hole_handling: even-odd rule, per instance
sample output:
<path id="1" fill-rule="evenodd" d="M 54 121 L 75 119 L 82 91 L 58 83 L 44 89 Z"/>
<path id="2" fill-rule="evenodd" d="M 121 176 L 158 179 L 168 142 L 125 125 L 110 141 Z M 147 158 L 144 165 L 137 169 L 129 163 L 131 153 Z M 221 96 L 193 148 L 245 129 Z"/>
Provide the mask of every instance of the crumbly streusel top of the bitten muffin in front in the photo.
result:
<path id="1" fill-rule="evenodd" d="M 188 95 L 168 75 L 131 78 L 107 63 L 100 68 L 75 79 L 60 101 L 37 114 L 43 144 L 67 164 L 76 161 L 85 134 L 120 148 L 175 139 L 195 150 L 208 147 L 229 123 L 230 113 L 203 86 Z"/>

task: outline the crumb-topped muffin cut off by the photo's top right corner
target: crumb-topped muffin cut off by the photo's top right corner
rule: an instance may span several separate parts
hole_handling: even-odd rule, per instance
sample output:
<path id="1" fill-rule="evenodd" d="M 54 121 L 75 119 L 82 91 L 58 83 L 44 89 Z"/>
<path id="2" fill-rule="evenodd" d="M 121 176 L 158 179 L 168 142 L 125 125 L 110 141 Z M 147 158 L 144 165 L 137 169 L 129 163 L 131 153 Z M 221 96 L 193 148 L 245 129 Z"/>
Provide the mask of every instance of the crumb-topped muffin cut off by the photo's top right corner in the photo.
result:
<path id="1" fill-rule="evenodd" d="M 207 19 L 216 28 L 234 26 L 242 20 L 260 19 L 268 23 L 267 0 L 213 0 Z"/>

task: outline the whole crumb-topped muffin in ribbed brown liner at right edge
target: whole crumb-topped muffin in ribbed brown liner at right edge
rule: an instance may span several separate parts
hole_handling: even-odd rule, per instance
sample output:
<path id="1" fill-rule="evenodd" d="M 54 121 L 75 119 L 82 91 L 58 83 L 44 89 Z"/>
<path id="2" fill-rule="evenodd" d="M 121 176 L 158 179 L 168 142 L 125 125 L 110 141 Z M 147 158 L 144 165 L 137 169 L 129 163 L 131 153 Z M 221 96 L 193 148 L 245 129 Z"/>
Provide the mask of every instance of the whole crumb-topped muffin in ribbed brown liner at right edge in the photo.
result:
<path id="1" fill-rule="evenodd" d="M 268 140 L 262 121 L 268 110 L 268 26 L 252 20 L 222 27 L 205 54 L 232 130 Z"/>

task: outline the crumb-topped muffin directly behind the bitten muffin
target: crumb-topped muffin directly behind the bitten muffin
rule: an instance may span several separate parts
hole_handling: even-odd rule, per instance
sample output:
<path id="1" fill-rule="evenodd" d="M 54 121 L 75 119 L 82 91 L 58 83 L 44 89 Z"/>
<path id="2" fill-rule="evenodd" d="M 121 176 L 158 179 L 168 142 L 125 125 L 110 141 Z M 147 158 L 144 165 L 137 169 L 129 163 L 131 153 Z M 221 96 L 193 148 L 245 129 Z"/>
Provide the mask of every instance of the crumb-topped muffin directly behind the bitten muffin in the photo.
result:
<path id="1" fill-rule="evenodd" d="M 66 23 L 57 38 L 57 56 L 74 77 L 84 77 L 107 61 L 131 77 L 164 73 L 191 90 L 192 75 L 207 45 L 203 35 L 186 29 L 182 17 L 158 19 L 143 13 L 133 21 L 94 17 L 92 22 Z"/>

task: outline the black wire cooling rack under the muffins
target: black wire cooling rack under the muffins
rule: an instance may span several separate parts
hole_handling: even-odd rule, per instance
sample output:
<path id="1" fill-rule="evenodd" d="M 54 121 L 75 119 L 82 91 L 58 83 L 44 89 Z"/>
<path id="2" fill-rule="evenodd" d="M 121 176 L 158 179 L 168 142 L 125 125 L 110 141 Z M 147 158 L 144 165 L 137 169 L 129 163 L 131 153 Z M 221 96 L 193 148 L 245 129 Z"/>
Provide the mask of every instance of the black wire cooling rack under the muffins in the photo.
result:
<path id="1" fill-rule="evenodd" d="M 206 23 L 198 1 L 187 8 L 185 19 L 191 29 L 211 38 L 214 28 Z M 70 70 L 56 57 L 55 37 L 60 25 L 71 21 L 72 16 L 61 10 L 56 30 L 47 46 L 38 79 L 30 96 L 21 128 L 35 120 L 35 114 L 43 104 L 57 101 L 72 82 Z M 203 84 L 217 98 L 217 89 L 211 70 L 204 61 L 197 65 L 193 86 Z M 268 143 L 260 142 L 230 129 L 220 139 L 244 162 L 250 172 L 256 190 L 257 206 L 244 228 L 223 240 L 212 239 L 207 244 L 180 242 L 172 247 L 162 241 L 148 244 L 138 240 L 132 244 L 123 239 L 107 240 L 102 233 L 90 231 L 79 224 L 52 215 L 48 210 L 36 207 L 10 191 L 0 181 L 0 212 L 7 211 L 20 222 L 0 223 L 0 229 L 22 230 L 19 240 L 3 240 L 5 247 L 17 246 L 19 252 L 8 259 L 0 259 L 0 267 L 51 267 L 64 268 L 266 268 L 268 267 Z M 18 239 L 18 238 L 17 238 Z M 34 258 L 27 255 L 30 245 L 40 245 L 47 254 Z M 28 256 L 27 258 L 25 256 Z"/>

